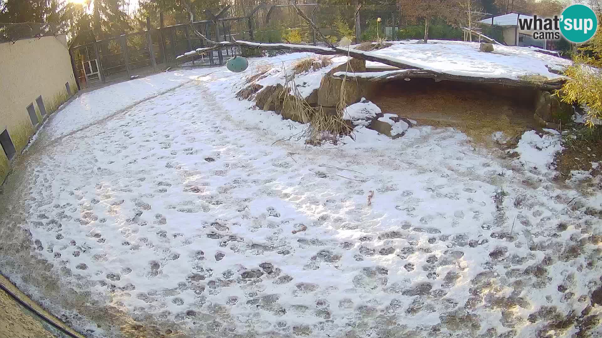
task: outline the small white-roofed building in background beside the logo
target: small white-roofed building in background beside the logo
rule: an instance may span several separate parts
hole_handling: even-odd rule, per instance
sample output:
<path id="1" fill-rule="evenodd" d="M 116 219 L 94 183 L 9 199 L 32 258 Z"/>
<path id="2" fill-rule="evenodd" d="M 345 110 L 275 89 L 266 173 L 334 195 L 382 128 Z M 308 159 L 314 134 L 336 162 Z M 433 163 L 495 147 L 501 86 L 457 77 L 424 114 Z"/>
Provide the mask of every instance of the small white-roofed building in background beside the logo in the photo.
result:
<path id="1" fill-rule="evenodd" d="M 518 19 L 533 19 L 533 16 L 510 13 L 480 20 L 479 23 L 489 26 L 501 26 L 503 28 L 504 43 L 508 46 L 536 46 L 543 49 L 551 46 L 550 40 L 533 38 L 533 30 L 521 29 Z"/>

